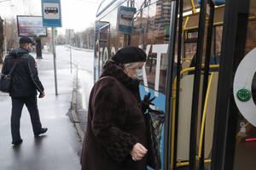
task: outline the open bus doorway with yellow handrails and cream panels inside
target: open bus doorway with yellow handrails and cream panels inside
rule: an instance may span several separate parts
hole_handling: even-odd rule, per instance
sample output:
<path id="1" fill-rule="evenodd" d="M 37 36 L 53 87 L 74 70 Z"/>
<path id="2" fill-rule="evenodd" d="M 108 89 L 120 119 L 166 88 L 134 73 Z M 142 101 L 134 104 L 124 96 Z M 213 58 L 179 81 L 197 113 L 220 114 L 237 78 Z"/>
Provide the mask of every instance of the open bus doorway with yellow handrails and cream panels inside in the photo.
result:
<path id="1" fill-rule="evenodd" d="M 210 71 L 215 4 L 211 0 L 193 1 L 193 5 L 191 2 L 172 1 L 172 33 L 168 49 L 170 69 L 166 85 L 166 113 L 170 114 L 166 115 L 165 122 L 164 169 L 209 169 L 211 165 L 218 82 L 218 72 Z M 188 12 L 189 5 L 190 10 L 200 12 L 195 12 L 186 21 L 183 14 Z M 182 43 L 183 38 L 185 43 Z M 189 54 L 194 65 L 181 71 L 181 59 L 191 51 Z M 180 74 L 173 80 L 176 58 Z M 214 67 L 218 65 L 211 66 Z M 188 71 L 190 74 L 184 76 L 183 73 Z"/>

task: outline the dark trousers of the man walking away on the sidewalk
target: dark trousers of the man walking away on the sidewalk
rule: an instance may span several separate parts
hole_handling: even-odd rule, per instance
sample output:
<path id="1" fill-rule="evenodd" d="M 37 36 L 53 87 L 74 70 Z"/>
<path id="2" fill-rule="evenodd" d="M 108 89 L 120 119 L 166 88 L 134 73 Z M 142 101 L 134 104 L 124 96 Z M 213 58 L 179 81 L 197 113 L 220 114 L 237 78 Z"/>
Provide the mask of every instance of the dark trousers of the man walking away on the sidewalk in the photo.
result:
<path id="1" fill-rule="evenodd" d="M 24 104 L 30 114 L 33 133 L 40 133 L 42 128 L 38 111 L 37 96 L 33 95 L 20 98 L 12 97 L 11 133 L 13 141 L 20 140 L 20 116 Z"/>

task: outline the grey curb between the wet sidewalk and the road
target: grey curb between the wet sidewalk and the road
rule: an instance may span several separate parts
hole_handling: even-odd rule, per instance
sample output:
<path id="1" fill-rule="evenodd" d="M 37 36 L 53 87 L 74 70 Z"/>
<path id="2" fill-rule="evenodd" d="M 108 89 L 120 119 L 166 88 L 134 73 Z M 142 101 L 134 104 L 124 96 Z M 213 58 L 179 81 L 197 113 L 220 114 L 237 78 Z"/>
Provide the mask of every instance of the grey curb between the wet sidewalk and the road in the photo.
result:
<path id="1" fill-rule="evenodd" d="M 75 65 L 75 64 L 73 64 Z M 79 137 L 82 141 L 82 144 L 84 143 L 84 130 L 83 127 L 80 124 L 79 118 L 77 116 L 77 88 L 78 88 L 78 65 L 75 65 L 77 67 L 77 74 L 74 77 L 73 81 L 73 94 L 72 94 L 72 103 L 71 103 L 71 114 L 73 116 L 74 124 L 78 130 Z"/>

